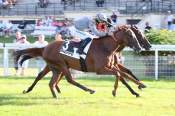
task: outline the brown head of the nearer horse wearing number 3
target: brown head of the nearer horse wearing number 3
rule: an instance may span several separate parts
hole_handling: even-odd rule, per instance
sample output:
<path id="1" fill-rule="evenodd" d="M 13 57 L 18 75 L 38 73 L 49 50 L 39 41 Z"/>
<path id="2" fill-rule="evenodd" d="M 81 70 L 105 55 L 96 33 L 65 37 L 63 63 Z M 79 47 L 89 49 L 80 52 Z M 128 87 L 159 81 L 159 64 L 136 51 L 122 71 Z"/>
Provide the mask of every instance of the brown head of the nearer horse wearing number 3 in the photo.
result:
<path id="1" fill-rule="evenodd" d="M 141 50 L 136 35 L 129 27 L 118 27 L 117 31 L 114 32 L 114 37 L 120 44 L 130 47 L 134 51 L 139 52 Z"/>

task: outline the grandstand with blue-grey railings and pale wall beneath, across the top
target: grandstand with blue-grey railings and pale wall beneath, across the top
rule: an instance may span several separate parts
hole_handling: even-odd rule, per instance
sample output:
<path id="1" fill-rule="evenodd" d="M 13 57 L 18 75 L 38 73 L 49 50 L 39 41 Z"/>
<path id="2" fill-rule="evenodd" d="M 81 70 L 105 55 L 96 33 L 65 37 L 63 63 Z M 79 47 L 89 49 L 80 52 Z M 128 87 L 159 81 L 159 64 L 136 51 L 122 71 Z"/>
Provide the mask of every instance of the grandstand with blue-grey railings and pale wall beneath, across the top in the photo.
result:
<path id="1" fill-rule="evenodd" d="M 35 20 L 46 15 L 52 15 L 57 19 L 75 18 L 82 14 L 93 15 L 98 12 L 110 14 L 119 11 L 121 22 L 127 19 L 139 19 L 138 23 L 145 18 L 146 14 L 166 14 L 167 11 L 175 13 L 174 0 L 104 0 L 102 7 L 98 7 L 98 0 L 49 0 L 45 8 L 41 8 L 39 0 L 17 0 L 13 8 L 0 8 L 0 19 L 2 20 Z M 78 12 L 77 12 L 78 11 Z M 94 12 L 95 11 L 95 12 Z"/>

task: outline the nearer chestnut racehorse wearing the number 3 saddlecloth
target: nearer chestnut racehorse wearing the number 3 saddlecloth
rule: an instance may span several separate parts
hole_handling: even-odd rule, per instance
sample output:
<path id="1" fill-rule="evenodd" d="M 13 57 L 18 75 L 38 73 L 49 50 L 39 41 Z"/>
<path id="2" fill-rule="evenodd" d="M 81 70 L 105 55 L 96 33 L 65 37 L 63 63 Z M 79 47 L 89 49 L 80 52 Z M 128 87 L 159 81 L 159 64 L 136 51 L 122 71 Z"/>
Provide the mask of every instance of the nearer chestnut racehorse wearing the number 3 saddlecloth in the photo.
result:
<path id="1" fill-rule="evenodd" d="M 45 48 L 31 48 L 27 50 L 18 51 L 17 55 L 18 56 L 24 55 L 26 58 L 43 56 L 45 61 L 48 63 L 48 67 L 53 73 L 52 80 L 54 81 L 50 82 L 50 86 L 52 86 L 51 92 L 54 97 L 56 97 L 56 94 L 53 88 L 55 86 L 55 82 L 57 81 L 55 79 L 57 79 L 57 76 L 59 74 L 60 75 L 64 74 L 68 82 L 70 82 L 71 84 L 85 91 L 89 91 L 90 93 L 94 93 L 93 90 L 88 89 L 85 86 L 82 86 L 81 84 L 75 82 L 72 79 L 72 76 L 68 68 L 81 70 L 79 61 L 70 58 L 68 56 L 55 53 L 56 50 L 57 51 L 60 50 L 62 43 L 63 41 L 55 41 L 46 46 Z M 117 72 L 119 72 L 122 76 L 125 76 L 125 78 L 128 78 L 134 81 L 136 84 L 140 85 L 141 87 L 144 87 L 144 85 L 138 80 L 133 79 L 128 75 L 126 75 L 125 73 L 123 73 L 122 71 L 118 70 L 113 63 L 110 64 L 111 57 L 113 57 L 113 54 L 115 52 L 120 51 L 118 49 L 119 48 L 118 45 L 129 46 L 137 51 L 141 49 L 135 35 L 129 28 L 119 29 L 113 33 L 113 36 L 106 36 L 100 38 L 99 40 L 93 40 L 86 59 L 88 72 L 96 72 L 97 74 L 112 74 L 112 75 L 117 75 Z"/>

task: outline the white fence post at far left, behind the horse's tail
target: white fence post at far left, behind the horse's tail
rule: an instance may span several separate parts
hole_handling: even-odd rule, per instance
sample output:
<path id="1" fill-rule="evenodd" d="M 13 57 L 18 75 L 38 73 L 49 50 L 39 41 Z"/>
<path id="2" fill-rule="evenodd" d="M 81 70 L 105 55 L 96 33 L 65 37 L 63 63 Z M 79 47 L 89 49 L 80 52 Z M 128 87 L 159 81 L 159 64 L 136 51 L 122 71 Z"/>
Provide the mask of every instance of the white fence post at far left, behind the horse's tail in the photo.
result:
<path id="1" fill-rule="evenodd" d="M 4 65 L 4 76 L 8 76 L 8 63 L 9 63 L 9 58 L 8 58 L 8 49 L 4 45 L 4 56 L 3 56 L 3 65 Z"/>

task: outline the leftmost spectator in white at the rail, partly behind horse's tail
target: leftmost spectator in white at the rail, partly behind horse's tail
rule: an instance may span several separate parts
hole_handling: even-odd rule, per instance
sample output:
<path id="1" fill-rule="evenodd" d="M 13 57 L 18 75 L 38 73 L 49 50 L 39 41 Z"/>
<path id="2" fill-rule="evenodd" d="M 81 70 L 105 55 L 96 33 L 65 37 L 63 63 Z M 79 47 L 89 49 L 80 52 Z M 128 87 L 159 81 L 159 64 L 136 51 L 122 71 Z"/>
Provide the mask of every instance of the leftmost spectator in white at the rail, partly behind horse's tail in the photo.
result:
<path id="1" fill-rule="evenodd" d="M 27 41 L 27 37 L 26 35 L 22 35 L 20 39 L 17 39 L 16 44 L 18 44 L 19 46 L 24 46 L 24 45 L 29 45 L 30 43 Z M 23 49 L 23 48 L 21 48 Z M 17 49 L 17 50 L 21 50 L 21 49 Z M 19 68 L 17 69 L 16 75 L 24 75 L 24 71 L 25 69 L 28 67 L 28 60 L 26 60 L 22 66 L 20 66 L 19 64 L 17 64 L 19 66 Z"/>

